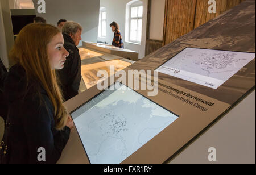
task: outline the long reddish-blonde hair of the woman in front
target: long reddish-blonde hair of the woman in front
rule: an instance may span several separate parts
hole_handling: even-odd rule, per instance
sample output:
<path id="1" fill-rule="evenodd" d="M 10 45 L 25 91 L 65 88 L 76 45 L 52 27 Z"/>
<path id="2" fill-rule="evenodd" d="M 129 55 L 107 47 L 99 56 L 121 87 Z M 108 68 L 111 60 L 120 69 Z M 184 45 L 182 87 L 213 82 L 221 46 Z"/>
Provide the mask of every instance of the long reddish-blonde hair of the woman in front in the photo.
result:
<path id="1" fill-rule="evenodd" d="M 60 30 L 46 23 L 31 23 L 17 36 L 10 59 L 26 70 L 28 80 L 38 81 L 46 90 L 55 110 L 55 128 L 64 128 L 68 114 L 63 106 L 63 97 L 57 84 L 55 70 L 51 69 L 47 45 Z"/>

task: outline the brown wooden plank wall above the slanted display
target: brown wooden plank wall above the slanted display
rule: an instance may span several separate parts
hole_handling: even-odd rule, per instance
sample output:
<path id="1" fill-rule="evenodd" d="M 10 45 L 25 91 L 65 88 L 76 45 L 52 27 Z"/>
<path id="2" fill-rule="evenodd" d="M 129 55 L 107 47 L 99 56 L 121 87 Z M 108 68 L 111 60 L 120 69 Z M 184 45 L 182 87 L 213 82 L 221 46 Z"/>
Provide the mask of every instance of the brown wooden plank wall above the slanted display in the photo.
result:
<path id="1" fill-rule="evenodd" d="M 216 0 L 216 14 L 208 12 L 208 0 L 166 0 L 164 45 L 180 38 L 245 0 Z"/>

